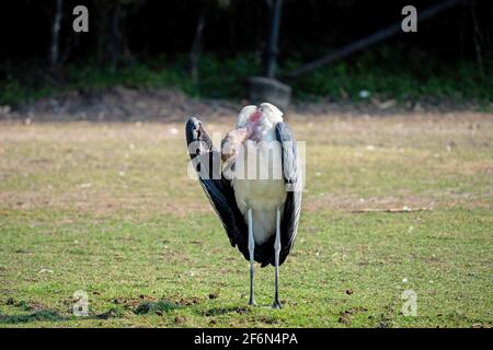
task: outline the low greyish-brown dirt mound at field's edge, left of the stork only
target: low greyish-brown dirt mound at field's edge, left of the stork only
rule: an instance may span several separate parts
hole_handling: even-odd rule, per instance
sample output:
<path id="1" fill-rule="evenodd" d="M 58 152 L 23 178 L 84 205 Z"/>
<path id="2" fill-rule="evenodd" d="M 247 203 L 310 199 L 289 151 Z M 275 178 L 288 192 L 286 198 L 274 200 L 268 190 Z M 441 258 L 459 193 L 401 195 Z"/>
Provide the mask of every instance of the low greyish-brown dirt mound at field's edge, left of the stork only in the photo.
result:
<path id="1" fill-rule="evenodd" d="M 187 115 L 231 115 L 236 104 L 196 100 L 172 90 L 111 88 L 72 91 L 18 107 L 4 118 L 32 121 L 183 120 Z"/>

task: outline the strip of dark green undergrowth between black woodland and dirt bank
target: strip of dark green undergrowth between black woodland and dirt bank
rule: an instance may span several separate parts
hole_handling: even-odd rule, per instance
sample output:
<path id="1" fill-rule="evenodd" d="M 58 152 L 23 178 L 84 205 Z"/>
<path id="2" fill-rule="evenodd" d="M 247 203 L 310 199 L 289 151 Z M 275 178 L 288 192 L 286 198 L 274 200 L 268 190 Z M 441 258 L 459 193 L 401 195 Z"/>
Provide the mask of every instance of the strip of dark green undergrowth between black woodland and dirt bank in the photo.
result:
<path id="1" fill-rule="evenodd" d="M 484 74 L 474 60 L 440 59 L 423 51 L 399 46 L 382 46 L 354 57 L 322 67 L 298 80 L 287 81 L 294 88 L 297 101 L 330 100 L 366 104 L 359 92 L 366 90 L 377 101 L 395 100 L 397 103 L 424 102 L 451 105 L 472 104 L 479 110 L 491 110 L 493 105 L 493 59 L 484 55 Z M 398 58 L 398 59 L 397 59 Z M 307 58 L 283 58 L 280 79 L 300 67 Z M 423 65 L 426 62 L 426 65 Z M 4 63 L 4 71 L 11 66 Z M 25 72 L 33 70 L 30 63 Z M 133 89 L 173 88 L 194 97 L 244 98 L 246 79 L 262 72 L 261 59 L 252 54 L 229 57 L 204 54 L 200 56 L 199 82 L 194 84 L 188 73 L 188 57 L 160 57 L 122 66 L 115 71 L 84 61 L 69 63 L 61 70 L 61 81 L 48 83 L 39 73 L 23 79 L 8 75 L 0 82 L 0 104 L 22 104 L 57 92 L 74 89 Z"/>

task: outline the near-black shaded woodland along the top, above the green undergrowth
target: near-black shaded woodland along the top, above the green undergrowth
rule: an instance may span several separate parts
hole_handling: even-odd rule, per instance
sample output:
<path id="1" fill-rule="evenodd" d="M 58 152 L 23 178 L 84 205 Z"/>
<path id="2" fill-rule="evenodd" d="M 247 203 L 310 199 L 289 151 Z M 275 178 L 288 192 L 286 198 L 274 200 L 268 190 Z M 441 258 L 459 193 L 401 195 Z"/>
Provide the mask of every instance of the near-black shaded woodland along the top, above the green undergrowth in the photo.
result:
<path id="1" fill-rule="evenodd" d="M 424 9 L 436 3 L 415 0 Z M 285 0 L 280 25 L 284 57 L 313 59 L 400 21 L 409 1 Z M 90 32 L 72 31 L 72 9 L 84 4 Z M 46 62 L 58 69 L 68 61 L 94 59 L 118 65 L 188 52 L 192 72 L 200 51 L 227 56 L 264 50 L 268 0 L 18 0 L 4 1 L 0 13 L 0 62 Z M 410 48 L 447 59 L 482 60 L 491 51 L 493 1 L 468 1 L 399 35 Z M 194 74 L 193 74 L 194 77 Z"/>

